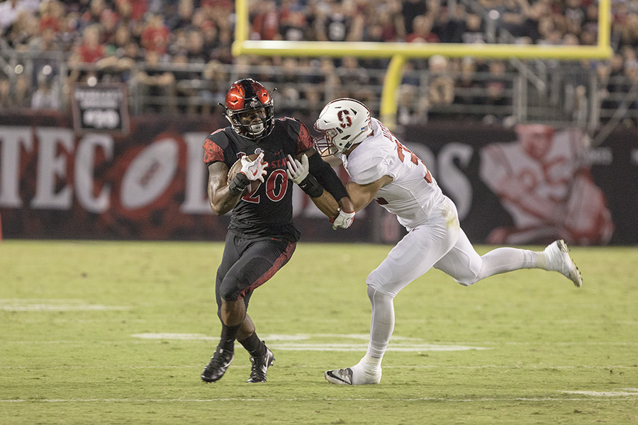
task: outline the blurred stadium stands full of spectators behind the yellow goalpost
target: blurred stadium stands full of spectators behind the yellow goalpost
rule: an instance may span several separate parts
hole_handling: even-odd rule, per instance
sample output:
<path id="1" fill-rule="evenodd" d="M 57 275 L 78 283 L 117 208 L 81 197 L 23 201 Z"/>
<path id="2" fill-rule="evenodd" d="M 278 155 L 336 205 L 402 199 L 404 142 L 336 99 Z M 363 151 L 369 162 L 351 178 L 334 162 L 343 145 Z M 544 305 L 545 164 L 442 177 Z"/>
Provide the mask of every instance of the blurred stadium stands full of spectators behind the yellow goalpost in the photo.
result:
<path id="1" fill-rule="evenodd" d="M 379 111 L 386 60 L 237 57 L 230 0 L 5 0 L 2 108 L 66 111 L 74 82 L 127 84 L 132 113 L 213 113 L 232 81 L 277 88 L 279 113 L 354 96 Z M 594 0 L 252 0 L 253 40 L 593 45 Z M 612 5 L 609 61 L 410 60 L 399 123 L 638 120 L 638 6 Z M 619 112 L 620 111 L 620 112 Z"/>

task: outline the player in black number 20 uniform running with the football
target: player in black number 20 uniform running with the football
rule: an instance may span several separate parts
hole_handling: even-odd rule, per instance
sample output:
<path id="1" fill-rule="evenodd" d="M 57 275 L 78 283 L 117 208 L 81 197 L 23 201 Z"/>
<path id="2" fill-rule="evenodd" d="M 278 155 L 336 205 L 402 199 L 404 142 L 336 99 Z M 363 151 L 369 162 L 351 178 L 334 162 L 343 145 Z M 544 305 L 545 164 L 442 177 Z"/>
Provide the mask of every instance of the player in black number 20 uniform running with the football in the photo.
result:
<path id="1" fill-rule="evenodd" d="M 292 181 L 331 218 L 333 228 L 348 227 L 354 209 L 306 126 L 293 118 L 275 119 L 272 97 L 262 84 L 235 81 L 226 94 L 225 116 L 231 125 L 203 145 L 211 208 L 216 215 L 233 214 L 215 283 L 221 338 L 201 379 L 215 382 L 224 375 L 236 339 L 250 353 L 248 382 L 265 382 L 274 356 L 255 333 L 247 307 L 252 292 L 289 261 L 300 237 L 293 223 Z M 253 154 L 259 156 L 251 161 Z M 241 169 L 228 181 L 237 159 Z"/>

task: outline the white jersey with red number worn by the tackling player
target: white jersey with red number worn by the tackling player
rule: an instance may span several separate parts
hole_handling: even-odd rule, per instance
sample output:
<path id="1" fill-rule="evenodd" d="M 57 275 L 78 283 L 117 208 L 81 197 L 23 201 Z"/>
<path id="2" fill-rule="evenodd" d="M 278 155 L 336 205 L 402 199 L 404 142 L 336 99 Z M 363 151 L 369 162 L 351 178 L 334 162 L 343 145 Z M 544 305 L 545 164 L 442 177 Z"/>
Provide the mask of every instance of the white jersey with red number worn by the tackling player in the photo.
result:
<path id="1" fill-rule="evenodd" d="M 406 229 L 426 222 L 444 202 L 439 185 L 425 164 L 394 137 L 379 120 L 372 118 L 372 135 L 342 161 L 350 179 L 364 185 L 391 176 L 392 182 L 376 193 L 376 201 L 395 214 Z"/>

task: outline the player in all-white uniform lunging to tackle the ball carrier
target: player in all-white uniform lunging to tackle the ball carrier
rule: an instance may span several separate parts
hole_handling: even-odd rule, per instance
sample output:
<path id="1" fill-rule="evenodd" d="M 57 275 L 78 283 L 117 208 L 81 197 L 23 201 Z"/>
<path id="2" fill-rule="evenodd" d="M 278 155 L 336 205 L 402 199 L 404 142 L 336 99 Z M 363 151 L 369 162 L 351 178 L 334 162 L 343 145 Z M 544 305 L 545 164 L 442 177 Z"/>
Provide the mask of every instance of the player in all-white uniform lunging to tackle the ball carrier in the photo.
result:
<path id="1" fill-rule="evenodd" d="M 466 286 L 520 268 L 558 271 L 577 287 L 582 285 L 562 240 L 543 251 L 504 247 L 479 256 L 459 226 L 457 207 L 442 193 L 425 164 L 379 120 L 371 118 L 363 103 L 349 98 L 328 103 L 315 129 L 323 133 L 323 138 L 315 140 L 320 152 L 339 157 L 352 179 L 346 188 L 354 210 L 376 200 L 408 230 L 366 279 L 372 305 L 366 355 L 350 368 L 328 370 L 325 379 L 329 382 L 379 383 L 381 358 L 394 328 L 393 298 L 432 267 Z"/>

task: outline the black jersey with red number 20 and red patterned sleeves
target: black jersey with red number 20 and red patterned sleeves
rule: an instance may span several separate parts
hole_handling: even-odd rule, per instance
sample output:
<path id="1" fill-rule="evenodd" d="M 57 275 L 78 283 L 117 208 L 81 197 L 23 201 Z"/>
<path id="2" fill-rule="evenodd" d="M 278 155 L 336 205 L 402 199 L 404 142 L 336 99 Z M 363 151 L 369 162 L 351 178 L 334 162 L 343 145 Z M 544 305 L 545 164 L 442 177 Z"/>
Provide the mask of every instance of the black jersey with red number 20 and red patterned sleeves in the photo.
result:
<path id="1" fill-rule="evenodd" d="M 292 218 L 293 184 L 286 175 L 286 156 L 296 157 L 310 147 L 313 147 L 313 137 L 308 128 L 293 118 L 277 118 L 272 132 L 259 140 L 241 137 L 230 127 L 208 136 L 203 145 L 203 160 L 207 166 L 224 162 L 230 169 L 243 155 L 261 152 L 269 164 L 264 183 L 256 191 L 242 196 L 233 208 L 228 229 L 247 238 L 284 237 L 291 242 L 298 241 L 300 233 Z"/>

